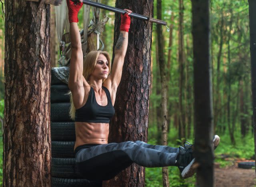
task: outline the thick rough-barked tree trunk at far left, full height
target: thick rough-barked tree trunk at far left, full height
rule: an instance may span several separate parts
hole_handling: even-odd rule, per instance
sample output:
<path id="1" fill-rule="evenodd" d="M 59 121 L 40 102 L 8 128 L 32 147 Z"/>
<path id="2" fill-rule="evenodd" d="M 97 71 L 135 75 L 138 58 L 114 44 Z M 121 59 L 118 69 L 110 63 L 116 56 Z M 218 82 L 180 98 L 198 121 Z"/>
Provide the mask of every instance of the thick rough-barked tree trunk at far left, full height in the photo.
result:
<path id="1" fill-rule="evenodd" d="M 50 5 L 5 9 L 3 186 L 50 187 Z"/>

